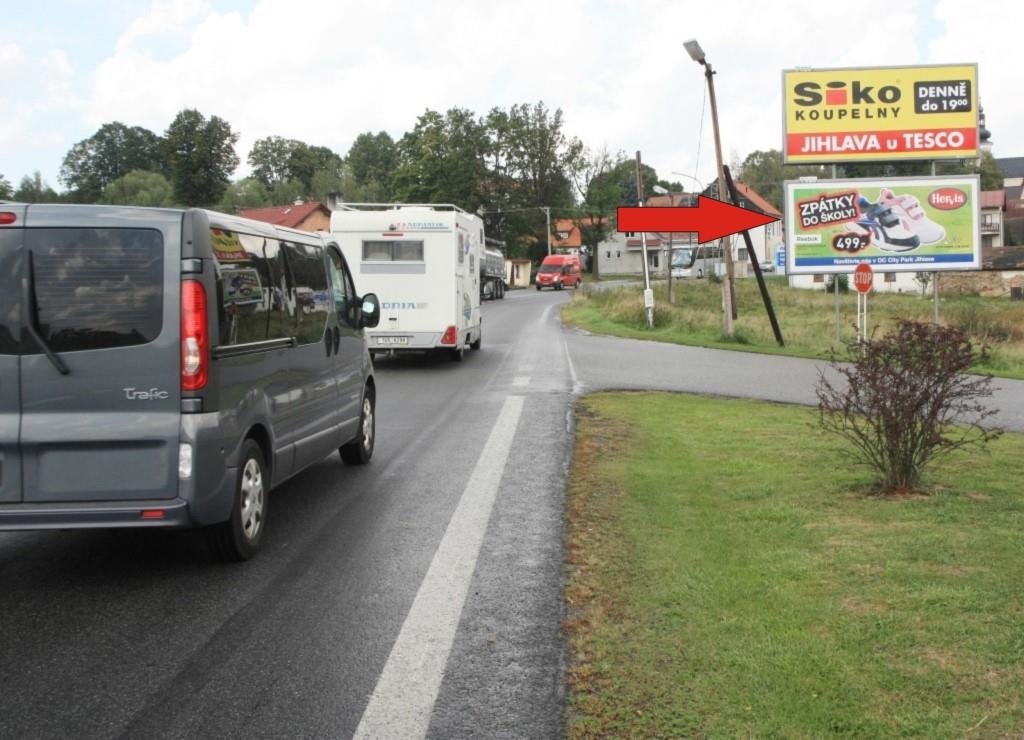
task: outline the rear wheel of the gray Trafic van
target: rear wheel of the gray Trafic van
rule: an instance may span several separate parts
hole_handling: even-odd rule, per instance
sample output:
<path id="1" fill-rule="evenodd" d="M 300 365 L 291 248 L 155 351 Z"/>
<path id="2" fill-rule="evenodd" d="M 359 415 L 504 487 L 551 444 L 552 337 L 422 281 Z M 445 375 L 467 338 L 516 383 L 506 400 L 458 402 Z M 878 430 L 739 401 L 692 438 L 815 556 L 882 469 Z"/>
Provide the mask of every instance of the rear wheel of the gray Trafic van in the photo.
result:
<path id="1" fill-rule="evenodd" d="M 242 445 L 231 514 L 226 522 L 206 530 L 207 545 L 217 558 L 240 562 L 256 555 L 266 525 L 269 488 L 263 450 L 255 440 L 247 439 Z"/>

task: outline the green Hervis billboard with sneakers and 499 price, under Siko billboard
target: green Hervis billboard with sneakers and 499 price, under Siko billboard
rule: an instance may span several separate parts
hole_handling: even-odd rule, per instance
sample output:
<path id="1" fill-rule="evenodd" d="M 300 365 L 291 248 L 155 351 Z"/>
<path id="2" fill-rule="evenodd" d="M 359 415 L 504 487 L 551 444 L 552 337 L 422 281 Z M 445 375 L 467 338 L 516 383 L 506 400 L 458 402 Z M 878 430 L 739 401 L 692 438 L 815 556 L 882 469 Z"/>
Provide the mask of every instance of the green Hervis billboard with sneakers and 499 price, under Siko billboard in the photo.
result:
<path id="1" fill-rule="evenodd" d="M 785 183 L 786 271 L 972 270 L 981 266 L 981 178 Z"/>

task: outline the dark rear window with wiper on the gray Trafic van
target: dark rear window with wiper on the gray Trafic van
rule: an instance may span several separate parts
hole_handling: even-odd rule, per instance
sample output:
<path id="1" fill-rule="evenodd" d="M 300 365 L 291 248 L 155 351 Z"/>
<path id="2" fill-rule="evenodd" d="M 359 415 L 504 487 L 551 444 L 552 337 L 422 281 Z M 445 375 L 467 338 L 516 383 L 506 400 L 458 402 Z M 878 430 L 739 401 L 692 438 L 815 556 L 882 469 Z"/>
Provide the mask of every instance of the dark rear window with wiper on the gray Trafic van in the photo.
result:
<path id="1" fill-rule="evenodd" d="M 26 229 L 39 333 L 55 352 L 152 342 L 164 318 L 164 240 L 142 228 Z"/>

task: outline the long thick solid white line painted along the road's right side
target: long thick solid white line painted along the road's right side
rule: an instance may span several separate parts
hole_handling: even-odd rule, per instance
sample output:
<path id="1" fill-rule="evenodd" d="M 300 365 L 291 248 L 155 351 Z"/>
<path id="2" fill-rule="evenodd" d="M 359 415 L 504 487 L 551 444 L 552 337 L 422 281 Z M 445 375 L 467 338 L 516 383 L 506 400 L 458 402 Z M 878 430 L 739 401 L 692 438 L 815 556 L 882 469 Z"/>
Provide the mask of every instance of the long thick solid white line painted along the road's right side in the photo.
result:
<path id="1" fill-rule="evenodd" d="M 355 738 L 426 736 L 522 406 L 522 396 L 505 399 L 362 712 Z"/>

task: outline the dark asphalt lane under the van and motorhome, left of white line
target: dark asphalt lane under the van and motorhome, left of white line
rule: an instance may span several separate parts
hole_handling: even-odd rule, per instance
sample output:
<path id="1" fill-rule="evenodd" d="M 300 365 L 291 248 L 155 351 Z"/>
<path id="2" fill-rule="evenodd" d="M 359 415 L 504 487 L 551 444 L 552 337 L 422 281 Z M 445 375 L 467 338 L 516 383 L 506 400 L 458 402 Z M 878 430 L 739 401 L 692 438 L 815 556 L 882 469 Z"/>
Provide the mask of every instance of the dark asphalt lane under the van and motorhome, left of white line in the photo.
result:
<path id="1" fill-rule="evenodd" d="M 374 463 L 274 491 L 246 565 L 211 564 L 194 532 L 0 535 L 0 735 L 350 733 L 498 407 L 467 407 L 473 384 L 503 356 L 382 368 Z"/>

